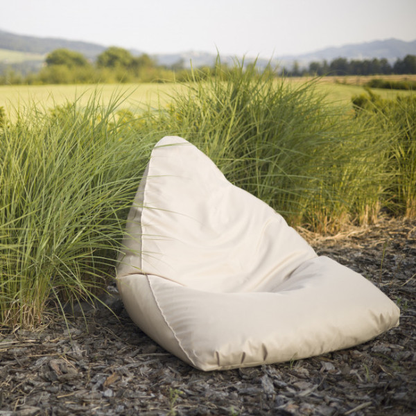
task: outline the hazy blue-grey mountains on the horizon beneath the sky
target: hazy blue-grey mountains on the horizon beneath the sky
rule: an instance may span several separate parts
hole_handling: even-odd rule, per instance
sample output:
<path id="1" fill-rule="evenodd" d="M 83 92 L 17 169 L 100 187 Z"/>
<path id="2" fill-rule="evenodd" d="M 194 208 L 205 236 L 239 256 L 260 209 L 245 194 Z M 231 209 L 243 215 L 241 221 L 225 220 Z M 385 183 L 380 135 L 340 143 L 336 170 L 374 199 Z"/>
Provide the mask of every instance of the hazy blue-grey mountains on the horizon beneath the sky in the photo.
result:
<path id="1" fill-rule="evenodd" d="M 67 48 L 73 51 L 83 53 L 87 58 L 94 60 L 97 55 L 107 49 L 108 46 L 101 44 L 94 44 L 90 42 L 80 42 L 66 39 L 59 39 L 54 37 L 35 37 L 26 35 L 17 35 L 0 30 L 0 49 L 10 51 L 21 51 L 26 53 L 46 54 L 54 49 Z M 133 55 L 141 55 L 141 51 L 136 49 L 130 50 Z M 416 40 L 412 42 L 405 42 L 403 40 L 388 39 L 376 40 L 374 42 L 365 42 L 361 44 L 347 44 L 345 46 L 330 47 L 320 49 L 311 53 L 303 53 L 301 55 L 286 55 L 273 58 L 272 65 L 279 65 L 280 67 L 291 68 L 293 62 L 297 62 L 300 67 L 305 67 L 312 61 L 327 60 L 331 62 L 336 58 L 352 59 L 371 59 L 371 58 L 387 58 L 390 62 L 395 62 L 397 58 L 404 58 L 406 55 L 416 55 Z M 182 62 L 184 67 L 190 67 L 191 62 L 193 67 L 202 67 L 205 65 L 211 66 L 216 60 L 216 55 L 213 53 L 188 51 L 171 54 L 157 54 L 152 55 L 159 64 L 171 66 Z M 241 57 L 239 57 L 241 59 Z M 227 64 L 232 64 L 234 58 L 232 56 L 221 56 L 221 61 Z M 252 62 L 253 58 L 246 58 L 245 62 Z M 269 60 L 259 58 L 257 64 L 259 67 L 264 67 Z M 0 62 L 1 63 L 1 62 Z"/>

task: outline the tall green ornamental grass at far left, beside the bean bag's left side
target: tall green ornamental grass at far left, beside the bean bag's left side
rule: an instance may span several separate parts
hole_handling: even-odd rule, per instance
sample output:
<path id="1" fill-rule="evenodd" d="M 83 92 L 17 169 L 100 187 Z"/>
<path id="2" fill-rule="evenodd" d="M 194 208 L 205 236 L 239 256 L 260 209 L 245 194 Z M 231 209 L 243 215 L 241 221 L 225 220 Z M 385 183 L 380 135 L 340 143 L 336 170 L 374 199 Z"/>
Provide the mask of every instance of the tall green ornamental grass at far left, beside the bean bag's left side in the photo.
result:
<path id="1" fill-rule="evenodd" d="M 93 94 L 0 129 L 0 325 L 31 327 L 46 306 L 92 301 L 112 275 L 150 153 Z"/>

